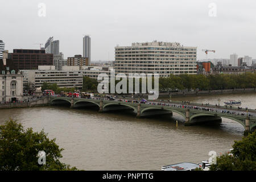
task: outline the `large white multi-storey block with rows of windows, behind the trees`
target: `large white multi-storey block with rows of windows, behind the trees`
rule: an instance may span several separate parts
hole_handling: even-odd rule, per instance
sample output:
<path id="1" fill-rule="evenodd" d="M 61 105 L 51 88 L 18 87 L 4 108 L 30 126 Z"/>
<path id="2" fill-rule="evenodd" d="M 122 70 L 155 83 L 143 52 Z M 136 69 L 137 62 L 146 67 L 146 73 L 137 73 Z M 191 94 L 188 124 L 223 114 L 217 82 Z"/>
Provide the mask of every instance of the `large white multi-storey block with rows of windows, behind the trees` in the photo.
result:
<path id="1" fill-rule="evenodd" d="M 133 43 L 115 47 L 115 73 L 159 73 L 160 77 L 196 74 L 197 47 L 180 43 Z"/>

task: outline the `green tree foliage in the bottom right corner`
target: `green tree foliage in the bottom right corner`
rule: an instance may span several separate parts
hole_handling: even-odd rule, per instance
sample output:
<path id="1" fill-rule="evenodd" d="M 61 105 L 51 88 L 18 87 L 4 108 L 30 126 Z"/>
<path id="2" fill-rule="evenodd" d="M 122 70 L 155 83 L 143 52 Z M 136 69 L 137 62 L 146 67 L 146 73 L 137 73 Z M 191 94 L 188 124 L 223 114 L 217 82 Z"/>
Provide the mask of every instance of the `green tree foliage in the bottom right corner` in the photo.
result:
<path id="1" fill-rule="evenodd" d="M 212 171 L 256 171 L 256 131 L 233 144 L 232 155 L 217 157 L 216 164 L 210 166 Z"/>

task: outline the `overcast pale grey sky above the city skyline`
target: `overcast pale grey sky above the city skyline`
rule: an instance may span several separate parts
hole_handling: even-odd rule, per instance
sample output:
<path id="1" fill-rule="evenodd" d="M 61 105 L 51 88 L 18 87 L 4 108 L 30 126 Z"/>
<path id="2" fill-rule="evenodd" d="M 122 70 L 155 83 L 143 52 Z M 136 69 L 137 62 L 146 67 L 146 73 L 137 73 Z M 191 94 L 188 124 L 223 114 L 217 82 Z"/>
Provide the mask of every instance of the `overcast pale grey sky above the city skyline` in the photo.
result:
<path id="1" fill-rule="evenodd" d="M 39 16 L 39 3 L 46 16 Z M 209 16 L 210 3 L 216 16 Z M 60 40 L 64 57 L 82 55 L 82 36 L 91 36 L 92 61 L 114 60 L 114 47 L 133 42 L 179 42 L 213 49 L 208 58 L 249 55 L 256 59 L 255 0 L 0 0 L 0 40 L 6 49 L 36 49 L 49 36 Z M 211 11 L 212 12 L 212 11 Z"/>

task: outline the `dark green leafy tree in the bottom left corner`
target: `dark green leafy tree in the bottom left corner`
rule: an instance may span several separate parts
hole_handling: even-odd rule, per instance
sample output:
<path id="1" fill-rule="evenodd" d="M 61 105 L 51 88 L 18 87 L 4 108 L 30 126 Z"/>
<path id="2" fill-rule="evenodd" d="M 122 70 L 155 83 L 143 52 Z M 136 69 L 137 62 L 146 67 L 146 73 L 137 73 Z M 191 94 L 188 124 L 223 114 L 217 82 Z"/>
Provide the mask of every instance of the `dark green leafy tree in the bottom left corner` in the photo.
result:
<path id="1" fill-rule="evenodd" d="M 54 139 L 49 139 L 44 131 L 24 130 L 20 123 L 10 119 L 0 126 L 0 171 L 42 171 L 77 170 L 61 163 L 59 148 Z M 46 152 L 46 164 L 38 164 L 38 152 Z"/>

